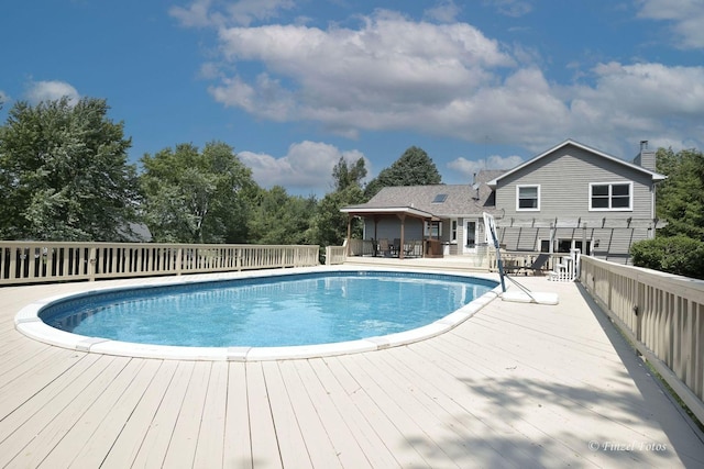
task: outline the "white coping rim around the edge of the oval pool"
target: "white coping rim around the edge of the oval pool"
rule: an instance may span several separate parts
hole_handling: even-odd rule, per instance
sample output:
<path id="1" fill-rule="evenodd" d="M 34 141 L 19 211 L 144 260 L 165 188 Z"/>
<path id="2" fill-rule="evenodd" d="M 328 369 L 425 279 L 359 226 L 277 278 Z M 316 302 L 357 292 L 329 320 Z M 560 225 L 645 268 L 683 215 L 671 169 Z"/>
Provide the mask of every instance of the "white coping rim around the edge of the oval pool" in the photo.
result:
<path id="1" fill-rule="evenodd" d="M 492 300 L 501 294 L 501 287 L 484 293 L 482 297 L 465 304 L 449 315 L 430 323 L 422 327 L 389 334 L 384 336 L 369 337 L 359 340 L 339 342 L 333 344 L 318 345 L 298 345 L 287 347 L 185 347 L 185 346 L 167 346 L 167 345 L 150 345 L 138 344 L 131 342 L 112 340 L 100 337 L 88 337 L 78 334 L 72 334 L 57 330 L 44 323 L 40 317 L 41 310 L 50 303 L 64 300 L 70 297 L 81 297 L 85 294 L 120 291 L 132 288 L 143 287 L 161 287 L 174 284 L 189 284 L 208 282 L 215 280 L 234 280 L 262 277 L 280 277 L 295 273 L 324 272 L 324 271 L 392 271 L 392 272 L 409 272 L 409 273 L 435 273 L 449 275 L 457 277 L 472 277 L 479 279 L 495 280 L 493 276 L 481 275 L 476 272 L 458 272 L 458 271 L 440 271 L 432 269 L 404 269 L 397 267 L 360 267 L 360 266 L 321 266 L 321 267 L 301 267 L 293 269 L 276 270 L 254 270 L 244 272 L 228 273 L 207 273 L 194 276 L 179 276 L 166 278 L 152 278 L 148 283 L 144 279 L 134 282 L 123 283 L 119 287 L 91 287 L 82 292 L 72 292 L 58 294 L 35 301 L 22 308 L 14 317 L 15 328 L 35 340 L 45 344 L 55 345 L 57 347 L 69 348 L 73 350 L 88 351 L 95 354 L 117 355 L 122 357 L 136 358 L 158 358 L 158 359 L 178 359 L 178 360 L 206 360 L 206 361 L 266 361 L 266 360 L 286 360 L 328 357 L 336 355 L 358 354 L 362 351 L 373 351 L 389 347 L 398 347 L 430 337 L 443 334 L 464 321 L 472 317 L 488 304 Z"/>

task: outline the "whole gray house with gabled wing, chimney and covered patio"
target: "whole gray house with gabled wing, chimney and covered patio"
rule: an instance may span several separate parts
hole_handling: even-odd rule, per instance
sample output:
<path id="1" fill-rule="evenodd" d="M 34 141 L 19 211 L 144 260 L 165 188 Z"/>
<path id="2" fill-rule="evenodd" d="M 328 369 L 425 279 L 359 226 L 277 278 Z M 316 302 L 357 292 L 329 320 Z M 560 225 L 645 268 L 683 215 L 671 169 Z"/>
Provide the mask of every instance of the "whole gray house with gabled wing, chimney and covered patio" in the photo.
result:
<path id="1" fill-rule="evenodd" d="M 632 163 L 572 139 L 508 171 L 481 171 L 472 185 L 387 187 L 361 205 L 365 239 L 422 239 L 424 255 L 472 255 L 485 245 L 482 214 L 496 220 L 508 252 L 579 248 L 627 263 L 630 245 L 654 236 L 656 153 L 641 143 Z M 403 249 L 399 255 L 403 257 Z"/>

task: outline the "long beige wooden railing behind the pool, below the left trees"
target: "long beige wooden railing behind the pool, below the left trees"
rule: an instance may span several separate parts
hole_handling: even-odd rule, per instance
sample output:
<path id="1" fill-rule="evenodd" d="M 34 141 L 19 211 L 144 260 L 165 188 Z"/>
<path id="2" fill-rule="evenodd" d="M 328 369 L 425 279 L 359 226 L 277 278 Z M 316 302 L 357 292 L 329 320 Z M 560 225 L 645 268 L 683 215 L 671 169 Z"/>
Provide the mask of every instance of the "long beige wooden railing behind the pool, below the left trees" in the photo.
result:
<path id="1" fill-rule="evenodd" d="M 0 284 L 318 265 L 318 246 L 0 242 Z"/>

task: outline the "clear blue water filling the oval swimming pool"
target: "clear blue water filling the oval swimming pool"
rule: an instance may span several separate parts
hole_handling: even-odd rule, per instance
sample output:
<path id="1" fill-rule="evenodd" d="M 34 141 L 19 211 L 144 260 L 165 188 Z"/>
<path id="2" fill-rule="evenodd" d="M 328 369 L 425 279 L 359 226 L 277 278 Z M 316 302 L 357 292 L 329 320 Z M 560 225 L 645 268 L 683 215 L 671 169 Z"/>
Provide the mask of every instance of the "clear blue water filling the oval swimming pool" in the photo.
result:
<path id="1" fill-rule="evenodd" d="M 328 344 L 430 324 L 496 287 L 400 272 L 298 273 L 92 293 L 41 312 L 51 326 L 191 347 Z"/>

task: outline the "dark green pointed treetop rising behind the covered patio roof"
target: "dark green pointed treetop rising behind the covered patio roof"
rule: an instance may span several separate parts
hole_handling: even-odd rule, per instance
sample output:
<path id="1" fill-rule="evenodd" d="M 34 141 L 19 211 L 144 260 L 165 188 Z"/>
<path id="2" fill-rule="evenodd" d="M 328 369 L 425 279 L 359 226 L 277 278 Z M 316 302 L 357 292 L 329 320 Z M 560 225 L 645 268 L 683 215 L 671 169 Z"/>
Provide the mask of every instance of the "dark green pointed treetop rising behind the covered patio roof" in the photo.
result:
<path id="1" fill-rule="evenodd" d="M 378 176 L 366 185 L 364 194 L 369 200 L 385 187 L 439 183 L 442 183 L 442 177 L 436 164 L 422 148 L 411 146 L 391 167 L 382 169 Z"/>

